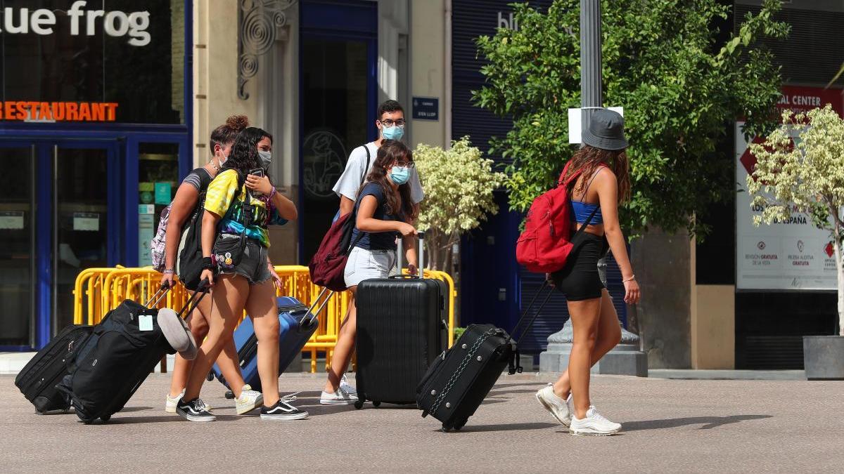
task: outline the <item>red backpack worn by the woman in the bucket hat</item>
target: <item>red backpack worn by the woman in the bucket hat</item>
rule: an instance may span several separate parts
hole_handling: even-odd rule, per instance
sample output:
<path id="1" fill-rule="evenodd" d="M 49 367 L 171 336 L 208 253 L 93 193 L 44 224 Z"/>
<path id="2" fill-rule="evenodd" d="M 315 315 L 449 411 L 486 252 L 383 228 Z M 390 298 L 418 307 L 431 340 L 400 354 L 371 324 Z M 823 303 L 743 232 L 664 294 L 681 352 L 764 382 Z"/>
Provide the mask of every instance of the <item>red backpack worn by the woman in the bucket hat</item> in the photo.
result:
<path id="1" fill-rule="evenodd" d="M 568 187 L 581 173 L 577 171 L 563 181 L 569 164 L 565 164 L 555 186 L 533 200 L 525 218 L 525 229 L 516 241 L 516 261 L 530 272 L 556 272 L 565 267 L 571 253 L 574 216 Z"/>

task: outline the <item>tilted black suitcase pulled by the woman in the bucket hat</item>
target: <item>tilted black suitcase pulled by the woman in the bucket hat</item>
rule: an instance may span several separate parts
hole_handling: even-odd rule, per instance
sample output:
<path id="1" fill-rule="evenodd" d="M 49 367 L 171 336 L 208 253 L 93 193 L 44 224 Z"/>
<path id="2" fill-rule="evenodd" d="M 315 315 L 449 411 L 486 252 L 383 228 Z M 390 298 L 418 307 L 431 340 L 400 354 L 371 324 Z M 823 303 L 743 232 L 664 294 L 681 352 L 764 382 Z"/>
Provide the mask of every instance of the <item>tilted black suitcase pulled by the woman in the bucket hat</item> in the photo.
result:
<path id="1" fill-rule="evenodd" d="M 553 288 L 548 285 L 544 302 L 527 323 L 522 336 L 527 334 L 552 292 Z M 540 293 L 537 292 L 516 323 L 514 334 Z M 422 417 L 431 415 L 440 420 L 444 431 L 463 428 L 506 367 L 509 367 L 509 374 L 522 372 L 517 342 L 513 342 L 503 329 L 489 324 L 468 326 L 463 336 L 436 358 L 419 383 L 416 404 L 423 411 Z"/>

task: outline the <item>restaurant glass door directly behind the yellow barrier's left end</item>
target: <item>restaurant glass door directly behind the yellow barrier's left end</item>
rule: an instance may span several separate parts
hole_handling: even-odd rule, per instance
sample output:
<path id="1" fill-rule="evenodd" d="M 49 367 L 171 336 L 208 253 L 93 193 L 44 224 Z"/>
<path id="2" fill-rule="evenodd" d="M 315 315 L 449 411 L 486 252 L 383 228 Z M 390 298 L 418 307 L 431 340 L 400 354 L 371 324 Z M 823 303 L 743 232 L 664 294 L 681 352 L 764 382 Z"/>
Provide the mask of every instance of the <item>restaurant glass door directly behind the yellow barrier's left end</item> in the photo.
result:
<path id="1" fill-rule="evenodd" d="M 116 256 L 119 206 L 113 143 L 52 146 L 51 329 L 73 323 L 73 286 L 79 272 L 111 267 Z M 113 210 L 113 212 L 110 212 Z"/>

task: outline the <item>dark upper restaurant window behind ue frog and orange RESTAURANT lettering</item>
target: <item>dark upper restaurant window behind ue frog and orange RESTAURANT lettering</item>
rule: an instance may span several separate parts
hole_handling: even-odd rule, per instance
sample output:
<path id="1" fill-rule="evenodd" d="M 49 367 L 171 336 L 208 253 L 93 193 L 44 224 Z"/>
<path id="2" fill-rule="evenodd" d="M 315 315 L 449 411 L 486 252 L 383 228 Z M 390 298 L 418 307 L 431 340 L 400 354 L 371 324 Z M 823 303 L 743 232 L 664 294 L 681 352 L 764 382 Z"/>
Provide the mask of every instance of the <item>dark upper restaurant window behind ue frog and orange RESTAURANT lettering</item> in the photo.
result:
<path id="1" fill-rule="evenodd" d="M 0 0 L 3 121 L 185 123 L 184 0 Z"/>

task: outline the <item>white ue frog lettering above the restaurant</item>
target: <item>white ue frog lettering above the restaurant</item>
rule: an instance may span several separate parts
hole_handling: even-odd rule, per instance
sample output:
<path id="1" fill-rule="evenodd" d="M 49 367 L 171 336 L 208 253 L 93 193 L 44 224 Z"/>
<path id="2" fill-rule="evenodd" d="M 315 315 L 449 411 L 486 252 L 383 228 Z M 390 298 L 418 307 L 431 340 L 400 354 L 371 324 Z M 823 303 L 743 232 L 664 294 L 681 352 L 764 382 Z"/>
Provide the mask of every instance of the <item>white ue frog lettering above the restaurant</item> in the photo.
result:
<path id="1" fill-rule="evenodd" d="M 77 0 L 68 10 L 47 8 L 3 8 L 3 23 L 0 33 L 3 35 L 53 35 L 54 26 L 59 21 L 68 22 L 70 35 L 94 36 L 105 31 L 106 35 L 117 38 L 129 36 L 127 41 L 132 46 L 147 46 L 151 36 L 149 12 L 126 13 L 119 10 L 87 9 L 85 0 Z M 96 4 L 96 3 L 95 3 Z M 102 3 L 100 3 L 101 5 Z"/>

